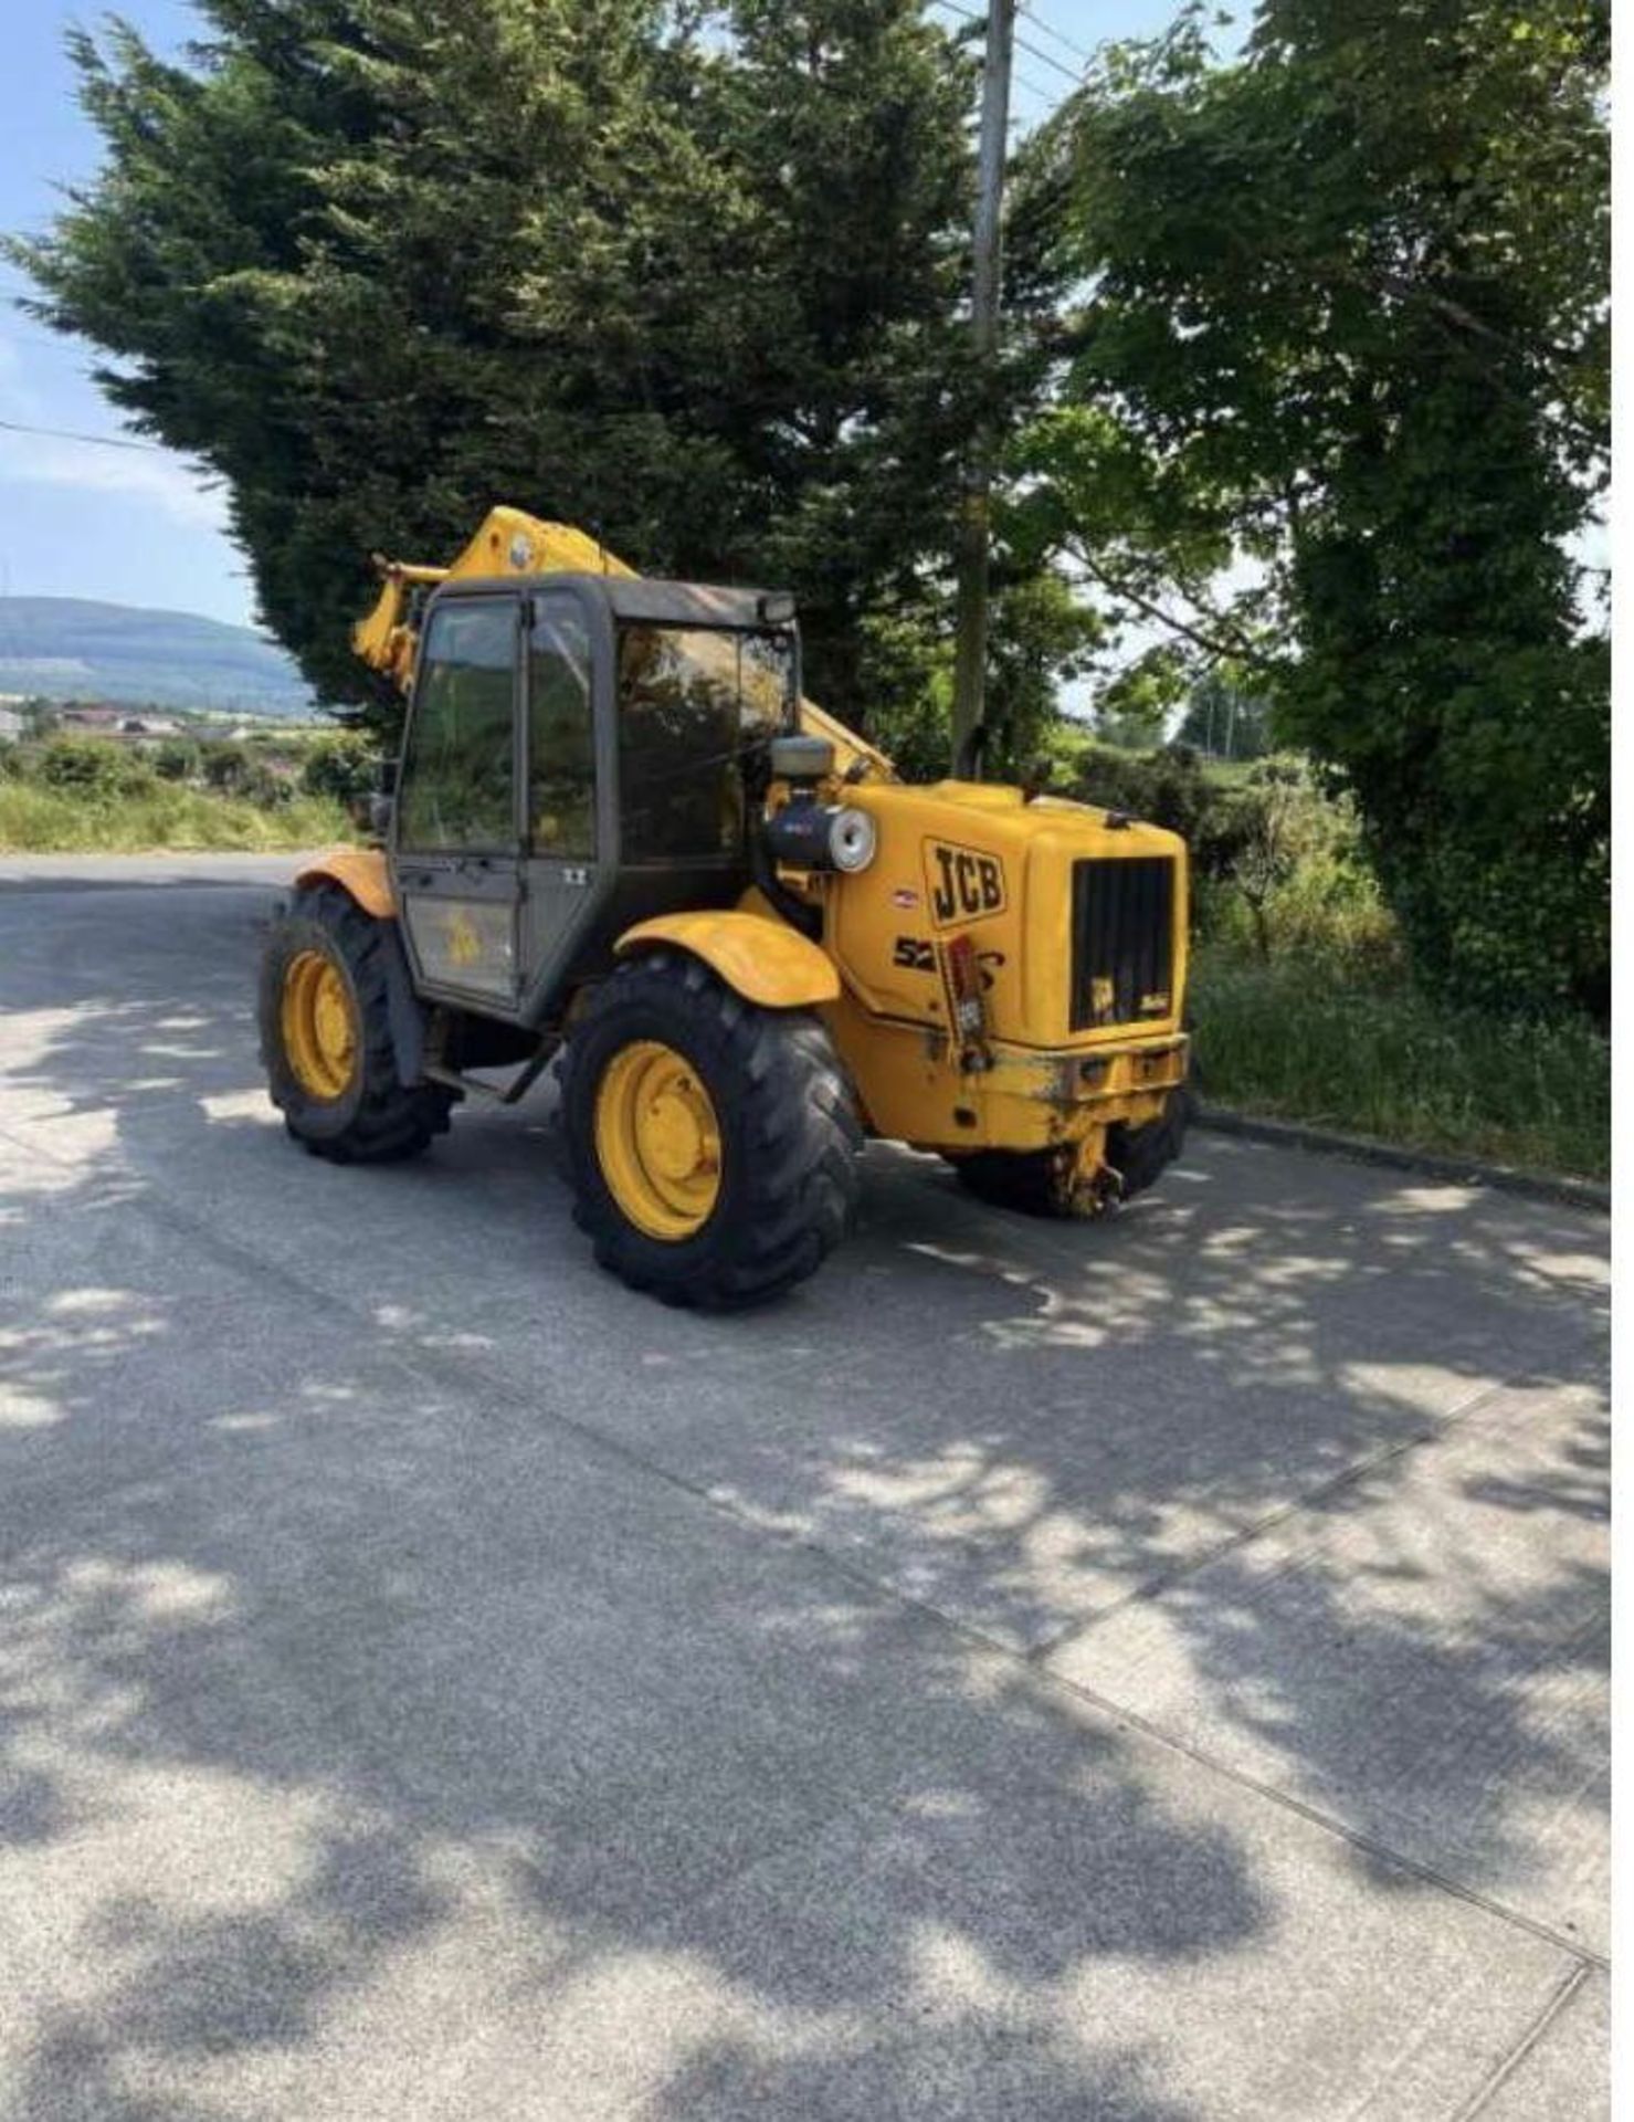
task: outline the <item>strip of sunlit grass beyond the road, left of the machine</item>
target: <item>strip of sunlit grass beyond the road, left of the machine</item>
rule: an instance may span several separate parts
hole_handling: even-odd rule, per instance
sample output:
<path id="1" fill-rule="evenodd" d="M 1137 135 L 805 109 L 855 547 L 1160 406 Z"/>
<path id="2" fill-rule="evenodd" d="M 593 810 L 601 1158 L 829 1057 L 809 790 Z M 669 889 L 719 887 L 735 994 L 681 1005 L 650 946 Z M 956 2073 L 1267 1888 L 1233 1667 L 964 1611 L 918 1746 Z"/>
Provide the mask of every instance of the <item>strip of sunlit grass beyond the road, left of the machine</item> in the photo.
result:
<path id="1" fill-rule="evenodd" d="M 352 825 L 342 806 L 320 796 L 261 808 L 236 796 L 172 785 L 140 796 L 87 798 L 30 781 L 0 781 L 0 853 L 6 855 L 278 851 L 350 838 Z"/>

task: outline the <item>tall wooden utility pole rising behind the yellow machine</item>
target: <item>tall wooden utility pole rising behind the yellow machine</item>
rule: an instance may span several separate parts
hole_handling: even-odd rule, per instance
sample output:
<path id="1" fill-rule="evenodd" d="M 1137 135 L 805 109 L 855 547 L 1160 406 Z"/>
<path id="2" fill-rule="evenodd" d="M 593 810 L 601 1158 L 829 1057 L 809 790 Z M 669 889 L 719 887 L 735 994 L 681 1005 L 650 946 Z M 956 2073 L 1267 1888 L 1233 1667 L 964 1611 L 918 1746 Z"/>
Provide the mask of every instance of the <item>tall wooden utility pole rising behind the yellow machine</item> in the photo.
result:
<path id="1" fill-rule="evenodd" d="M 999 212 L 1004 206 L 1004 151 L 1010 127 L 1010 45 L 1016 0 L 989 0 L 987 57 L 983 59 L 983 119 L 976 166 L 976 261 L 970 286 L 970 329 L 976 346 L 976 384 L 987 395 L 999 344 Z M 953 772 L 972 770 L 970 738 L 983 724 L 987 690 L 987 547 L 993 486 L 993 414 L 985 401 L 963 475 L 959 514 L 959 596 L 953 651 Z"/>

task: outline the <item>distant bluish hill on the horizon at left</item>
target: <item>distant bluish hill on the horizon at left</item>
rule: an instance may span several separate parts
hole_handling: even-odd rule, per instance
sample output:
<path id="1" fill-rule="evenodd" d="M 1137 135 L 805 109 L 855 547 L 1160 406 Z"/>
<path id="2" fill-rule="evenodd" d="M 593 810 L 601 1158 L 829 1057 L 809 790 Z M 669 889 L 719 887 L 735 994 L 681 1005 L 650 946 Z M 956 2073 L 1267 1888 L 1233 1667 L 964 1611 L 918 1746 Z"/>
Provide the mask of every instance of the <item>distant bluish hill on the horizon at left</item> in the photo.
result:
<path id="1" fill-rule="evenodd" d="M 310 715 L 289 656 L 248 626 L 83 596 L 0 596 L 0 692 Z"/>

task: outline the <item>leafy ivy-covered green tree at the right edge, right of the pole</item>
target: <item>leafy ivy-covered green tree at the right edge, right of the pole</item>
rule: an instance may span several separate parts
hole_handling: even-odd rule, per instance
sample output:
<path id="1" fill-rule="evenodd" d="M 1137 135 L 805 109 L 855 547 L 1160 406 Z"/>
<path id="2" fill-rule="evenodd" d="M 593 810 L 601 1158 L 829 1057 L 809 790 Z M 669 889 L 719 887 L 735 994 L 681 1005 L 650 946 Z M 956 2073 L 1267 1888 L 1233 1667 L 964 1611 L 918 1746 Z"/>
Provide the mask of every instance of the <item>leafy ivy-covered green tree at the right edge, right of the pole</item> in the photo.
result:
<path id="1" fill-rule="evenodd" d="M 1093 286 L 1036 535 L 1275 692 L 1420 970 L 1606 991 L 1602 0 L 1263 0 L 1108 53 L 1040 149 Z M 1273 651 L 1271 643 L 1280 643 Z"/>

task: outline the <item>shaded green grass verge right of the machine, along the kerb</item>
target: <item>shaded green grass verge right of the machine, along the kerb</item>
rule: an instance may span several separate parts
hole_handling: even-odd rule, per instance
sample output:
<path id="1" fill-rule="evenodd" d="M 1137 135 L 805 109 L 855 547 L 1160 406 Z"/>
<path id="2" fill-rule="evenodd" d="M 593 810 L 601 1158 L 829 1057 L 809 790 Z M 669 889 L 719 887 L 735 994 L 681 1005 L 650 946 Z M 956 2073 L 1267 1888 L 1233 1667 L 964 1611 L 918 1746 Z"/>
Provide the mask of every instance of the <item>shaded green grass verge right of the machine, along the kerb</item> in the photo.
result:
<path id="1" fill-rule="evenodd" d="M 1611 1040 L 1583 1019 L 1449 1010 L 1405 985 L 1218 946 L 1193 959 L 1205 1103 L 1602 1180 Z"/>

